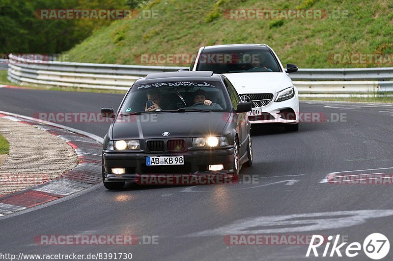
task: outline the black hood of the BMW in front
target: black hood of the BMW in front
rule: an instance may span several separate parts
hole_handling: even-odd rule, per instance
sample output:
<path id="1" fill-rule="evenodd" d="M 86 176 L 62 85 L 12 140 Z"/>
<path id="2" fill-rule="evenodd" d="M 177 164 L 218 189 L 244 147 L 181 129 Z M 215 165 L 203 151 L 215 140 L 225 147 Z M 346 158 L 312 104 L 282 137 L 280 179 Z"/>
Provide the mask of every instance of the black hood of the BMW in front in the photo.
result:
<path id="1" fill-rule="evenodd" d="M 118 117 L 112 126 L 113 140 L 219 136 L 230 113 L 157 113 Z M 168 136 L 163 136 L 169 132 Z"/>

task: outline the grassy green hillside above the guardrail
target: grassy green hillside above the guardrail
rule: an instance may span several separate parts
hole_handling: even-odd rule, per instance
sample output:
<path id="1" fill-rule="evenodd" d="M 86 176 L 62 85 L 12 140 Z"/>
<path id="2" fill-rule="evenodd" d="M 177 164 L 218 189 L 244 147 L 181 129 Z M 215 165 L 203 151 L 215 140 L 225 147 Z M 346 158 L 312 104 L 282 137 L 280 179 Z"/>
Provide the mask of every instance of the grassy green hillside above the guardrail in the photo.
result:
<path id="1" fill-rule="evenodd" d="M 300 68 L 393 67 L 391 0 L 154 0 L 142 9 L 154 10 L 158 18 L 118 20 L 96 30 L 66 52 L 70 61 L 146 65 L 141 54 L 191 55 L 204 45 L 265 43 L 283 64 Z M 322 10 L 322 17 L 228 19 L 230 9 L 313 9 Z M 335 17 L 325 17 L 324 10 Z M 351 64 L 348 54 L 373 56 L 367 56 L 371 63 L 355 56 Z"/>

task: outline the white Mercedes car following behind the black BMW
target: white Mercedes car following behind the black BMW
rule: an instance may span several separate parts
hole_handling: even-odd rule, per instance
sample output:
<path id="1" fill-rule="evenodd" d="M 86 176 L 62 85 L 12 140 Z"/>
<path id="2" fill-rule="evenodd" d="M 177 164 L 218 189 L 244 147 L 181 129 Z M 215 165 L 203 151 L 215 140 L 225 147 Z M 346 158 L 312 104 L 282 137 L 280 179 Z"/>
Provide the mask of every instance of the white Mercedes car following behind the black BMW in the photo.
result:
<path id="1" fill-rule="evenodd" d="M 299 93 L 287 75 L 298 67 L 282 67 L 279 57 L 267 45 L 238 44 L 200 47 L 190 69 L 224 74 L 244 102 L 253 124 L 279 123 L 286 131 L 299 129 Z M 215 101 L 213 101 L 215 102 Z"/>

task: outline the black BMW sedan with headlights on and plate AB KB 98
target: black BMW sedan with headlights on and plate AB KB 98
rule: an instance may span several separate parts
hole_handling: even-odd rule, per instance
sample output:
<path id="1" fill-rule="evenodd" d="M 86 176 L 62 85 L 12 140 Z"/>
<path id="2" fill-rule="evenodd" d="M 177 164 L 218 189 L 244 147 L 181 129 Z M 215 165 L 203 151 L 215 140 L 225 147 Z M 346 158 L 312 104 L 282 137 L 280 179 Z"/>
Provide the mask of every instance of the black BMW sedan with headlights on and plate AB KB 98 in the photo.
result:
<path id="1" fill-rule="evenodd" d="M 123 98 L 104 137 L 102 178 L 107 189 L 146 177 L 229 177 L 253 163 L 251 103 L 212 71 L 149 74 Z M 176 183 L 179 184 L 179 183 Z"/>

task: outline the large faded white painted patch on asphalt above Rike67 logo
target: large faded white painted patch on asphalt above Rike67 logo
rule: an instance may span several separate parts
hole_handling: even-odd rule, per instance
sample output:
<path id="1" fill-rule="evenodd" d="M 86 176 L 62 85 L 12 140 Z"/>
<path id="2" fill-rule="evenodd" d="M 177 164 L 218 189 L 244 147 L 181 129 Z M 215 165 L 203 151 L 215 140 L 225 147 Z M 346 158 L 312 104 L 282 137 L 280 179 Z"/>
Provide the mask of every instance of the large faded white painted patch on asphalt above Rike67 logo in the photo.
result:
<path id="1" fill-rule="evenodd" d="M 354 210 L 306 214 L 271 215 L 241 218 L 219 228 L 189 234 L 186 237 L 293 233 L 351 227 L 367 219 L 392 216 L 393 210 Z M 274 228 L 277 226 L 277 228 Z M 286 226 L 286 227 L 285 227 Z"/>

